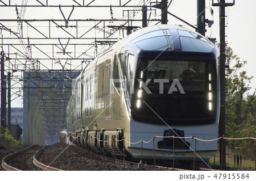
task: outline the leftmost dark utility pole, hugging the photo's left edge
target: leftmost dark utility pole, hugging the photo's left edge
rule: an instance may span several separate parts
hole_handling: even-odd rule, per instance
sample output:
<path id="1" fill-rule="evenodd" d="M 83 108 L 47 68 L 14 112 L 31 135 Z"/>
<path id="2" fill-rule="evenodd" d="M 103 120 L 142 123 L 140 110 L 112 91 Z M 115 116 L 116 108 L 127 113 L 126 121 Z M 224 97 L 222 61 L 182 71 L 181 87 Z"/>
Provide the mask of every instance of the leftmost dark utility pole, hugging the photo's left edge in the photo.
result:
<path id="1" fill-rule="evenodd" d="M 5 53 L 1 51 L 1 127 L 6 128 L 6 75 Z"/>

